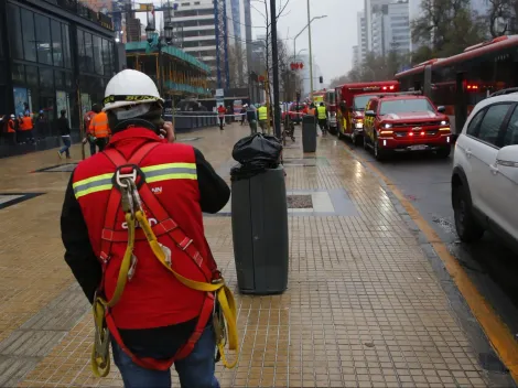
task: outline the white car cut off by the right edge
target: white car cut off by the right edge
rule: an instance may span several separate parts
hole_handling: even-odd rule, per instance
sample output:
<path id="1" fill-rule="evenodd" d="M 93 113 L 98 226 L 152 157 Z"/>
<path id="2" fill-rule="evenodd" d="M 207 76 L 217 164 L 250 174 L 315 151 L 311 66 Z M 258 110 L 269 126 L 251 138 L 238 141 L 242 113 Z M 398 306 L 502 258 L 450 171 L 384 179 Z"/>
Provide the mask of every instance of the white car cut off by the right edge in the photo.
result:
<path id="1" fill-rule="evenodd" d="M 518 250 L 518 88 L 478 103 L 455 144 L 452 203 L 462 241 L 490 229 Z"/>

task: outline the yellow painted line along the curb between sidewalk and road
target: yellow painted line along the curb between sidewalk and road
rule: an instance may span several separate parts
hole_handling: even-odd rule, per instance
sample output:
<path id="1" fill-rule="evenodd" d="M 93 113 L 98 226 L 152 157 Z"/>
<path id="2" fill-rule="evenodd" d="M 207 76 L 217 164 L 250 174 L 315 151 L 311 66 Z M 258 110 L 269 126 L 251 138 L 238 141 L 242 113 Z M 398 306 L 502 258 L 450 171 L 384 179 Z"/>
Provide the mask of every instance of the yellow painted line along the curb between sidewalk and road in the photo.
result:
<path id="1" fill-rule="evenodd" d="M 450 254 L 446 245 L 441 240 L 435 230 L 433 230 L 433 228 L 427 223 L 410 201 L 406 198 L 398 186 L 392 183 L 392 181 L 390 181 L 390 179 L 386 176 L 373 162 L 367 161 L 355 150 L 347 147 L 346 149 L 353 152 L 363 164 L 368 164 L 369 168 L 378 174 L 381 180 L 384 180 L 386 185 L 396 195 L 419 229 L 421 229 L 439 258 L 444 263 L 444 267 L 455 282 L 458 291 L 461 291 L 461 294 L 466 300 L 470 310 L 486 333 L 495 352 L 498 354 L 504 365 L 509 369 L 514 380 L 518 382 L 518 342 L 509 327 L 500 320 L 493 308 L 478 292 L 477 288 L 473 284 L 462 266 L 455 257 Z"/>

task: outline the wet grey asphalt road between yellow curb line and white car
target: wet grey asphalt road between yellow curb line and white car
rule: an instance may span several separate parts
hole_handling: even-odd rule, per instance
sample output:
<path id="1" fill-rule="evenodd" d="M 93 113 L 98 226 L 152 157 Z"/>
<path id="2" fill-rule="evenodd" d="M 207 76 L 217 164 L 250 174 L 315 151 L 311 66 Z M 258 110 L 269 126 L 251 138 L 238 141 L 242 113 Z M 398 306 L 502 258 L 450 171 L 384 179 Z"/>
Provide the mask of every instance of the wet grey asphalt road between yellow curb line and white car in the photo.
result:
<path id="1" fill-rule="evenodd" d="M 451 205 L 453 150 L 449 159 L 429 154 L 398 154 L 382 163 L 348 140 L 344 144 L 367 164 L 382 172 L 446 244 L 478 291 L 508 325 L 518 333 L 518 258 L 492 233 L 472 246 L 462 244 L 455 231 Z"/>

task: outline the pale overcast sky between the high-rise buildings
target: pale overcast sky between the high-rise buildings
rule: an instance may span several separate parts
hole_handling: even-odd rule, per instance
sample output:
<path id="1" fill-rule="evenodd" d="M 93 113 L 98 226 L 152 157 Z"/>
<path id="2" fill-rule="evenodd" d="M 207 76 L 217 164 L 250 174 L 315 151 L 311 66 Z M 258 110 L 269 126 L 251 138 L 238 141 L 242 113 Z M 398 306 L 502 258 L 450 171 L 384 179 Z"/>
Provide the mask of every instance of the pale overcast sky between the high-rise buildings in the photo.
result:
<path id="1" fill-rule="evenodd" d="M 251 0 L 253 35 L 265 34 L 265 0 Z M 266 0 L 270 3 L 270 0 Z M 287 0 L 277 0 L 278 7 Z M 278 34 L 288 41 L 293 50 L 293 37 L 307 24 L 307 0 L 289 0 L 284 15 L 279 20 Z M 310 0 L 311 18 L 327 15 L 315 20 L 312 28 L 313 56 L 319 64 L 325 83 L 346 74 L 353 62 L 353 46 L 357 43 L 356 15 L 364 8 L 364 0 Z M 306 30 L 307 31 L 307 30 Z M 296 51 L 309 47 L 307 32 L 296 40 Z M 304 52 L 307 54 L 307 52 Z"/>

